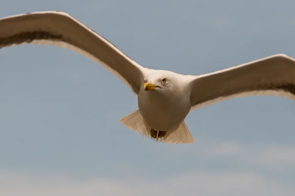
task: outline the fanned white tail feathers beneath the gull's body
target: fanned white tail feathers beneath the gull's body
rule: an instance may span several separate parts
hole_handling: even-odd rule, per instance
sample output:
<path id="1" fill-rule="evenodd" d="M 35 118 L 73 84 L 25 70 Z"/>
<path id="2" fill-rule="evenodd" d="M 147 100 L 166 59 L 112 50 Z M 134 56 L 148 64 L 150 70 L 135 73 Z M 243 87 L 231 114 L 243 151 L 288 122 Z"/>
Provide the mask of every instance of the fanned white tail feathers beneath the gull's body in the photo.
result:
<path id="1" fill-rule="evenodd" d="M 143 136 L 151 138 L 158 142 L 174 144 L 188 144 L 195 142 L 184 121 L 180 123 L 176 131 L 173 131 L 170 134 L 168 131 L 164 137 L 157 139 L 150 136 L 151 127 L 149 127 L 148 124 L 145 123 L 145 120 L 139 110 L 136 110 L 131 114 L 124 116 L 119 120 L 119 122 L 129 129 L 134 130 L 137 133 L 141 133 Z"/>

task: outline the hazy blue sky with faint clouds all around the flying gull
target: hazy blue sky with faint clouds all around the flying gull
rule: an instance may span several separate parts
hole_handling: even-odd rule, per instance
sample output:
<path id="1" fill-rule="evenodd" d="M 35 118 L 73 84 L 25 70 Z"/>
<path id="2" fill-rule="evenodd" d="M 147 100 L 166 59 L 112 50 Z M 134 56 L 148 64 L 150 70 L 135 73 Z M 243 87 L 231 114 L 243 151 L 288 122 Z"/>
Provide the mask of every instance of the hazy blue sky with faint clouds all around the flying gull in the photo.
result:
<path id="1" fill-rule="evenodd" d="M 64 11 L 142 66 L 199 75 L 295 58 L 293 0 L 1 0 L 0 17 Z M 119 119 L 120 79 L 76 52 L 0 50 L 1 196 L 294 196 L 295 102 L 234 98 L 185 119 L 195 143 L 156 143 Z M 202 93 L 202 92 L 200 92 Z"/>

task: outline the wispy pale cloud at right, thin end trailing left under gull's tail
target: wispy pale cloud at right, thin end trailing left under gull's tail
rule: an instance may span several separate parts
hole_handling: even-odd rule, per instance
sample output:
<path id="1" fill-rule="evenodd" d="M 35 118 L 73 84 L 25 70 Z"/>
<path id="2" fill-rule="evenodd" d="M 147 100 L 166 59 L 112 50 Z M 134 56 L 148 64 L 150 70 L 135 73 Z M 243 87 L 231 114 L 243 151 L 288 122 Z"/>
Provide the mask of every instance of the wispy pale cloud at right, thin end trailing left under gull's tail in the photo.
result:
<path id="1" fill-rule="evenodd" d="M 234 142 L 198 142 L 189 147 L 162 146 L 166 154 L 199 157 L 201 159 L 227 160 L 239 168 L 250 170 L 295 171 L 295 146 L 249 145 Z"/>

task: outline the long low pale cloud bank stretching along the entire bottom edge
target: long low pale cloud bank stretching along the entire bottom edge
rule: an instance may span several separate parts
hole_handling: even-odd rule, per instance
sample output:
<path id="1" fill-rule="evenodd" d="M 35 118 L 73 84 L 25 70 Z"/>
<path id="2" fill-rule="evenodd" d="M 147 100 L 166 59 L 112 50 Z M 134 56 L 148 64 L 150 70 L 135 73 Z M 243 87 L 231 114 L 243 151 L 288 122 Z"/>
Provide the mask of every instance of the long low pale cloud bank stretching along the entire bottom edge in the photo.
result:
<path id="1" fill-rule="evenodd" d="M 4 172 L 2 172 L 4 173 Z M 75 180 L 60 175 L 5 172 L 0 176 L 3 196 L 291 196 L 295 187 L 254 172 L 194 171 L 169 178 Z"/>

